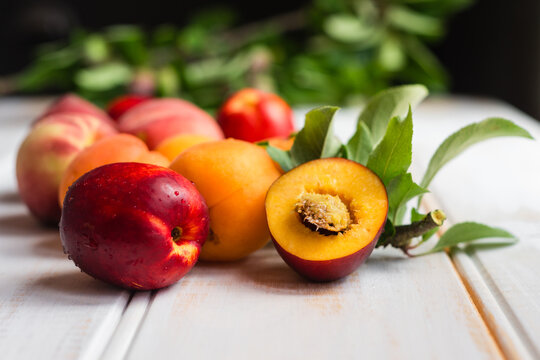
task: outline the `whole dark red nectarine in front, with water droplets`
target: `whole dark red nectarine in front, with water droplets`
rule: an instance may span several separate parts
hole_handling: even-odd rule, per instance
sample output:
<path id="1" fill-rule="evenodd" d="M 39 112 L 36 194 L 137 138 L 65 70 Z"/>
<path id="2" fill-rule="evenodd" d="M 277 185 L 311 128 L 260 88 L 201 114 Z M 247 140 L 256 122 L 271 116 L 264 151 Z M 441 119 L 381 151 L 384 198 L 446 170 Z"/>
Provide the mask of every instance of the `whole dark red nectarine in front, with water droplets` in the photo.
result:
<path id="1" fill-rule="evenodd" d="M 208 234 L 208 209 L 195 187 L 167 168 L 116 163 L 69 188 L 60 238 L 87 274 L 152 290 L 178 281 L 197 262 Z"/>

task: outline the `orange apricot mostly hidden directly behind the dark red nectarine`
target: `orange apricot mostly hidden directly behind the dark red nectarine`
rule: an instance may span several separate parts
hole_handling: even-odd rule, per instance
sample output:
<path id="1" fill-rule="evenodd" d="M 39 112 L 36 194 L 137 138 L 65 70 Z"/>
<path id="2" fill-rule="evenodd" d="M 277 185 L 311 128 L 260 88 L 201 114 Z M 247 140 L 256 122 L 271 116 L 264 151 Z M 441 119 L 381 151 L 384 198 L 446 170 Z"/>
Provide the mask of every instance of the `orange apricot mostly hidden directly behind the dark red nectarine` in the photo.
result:
<path id="1" fill-rule="evenodd" d="M 170 161 L 156 151 L 149 151 L 139 138 L 129 134 L 117 134 L 95 142 L 81 151 L 69 164 L 60 181 L 60 207 L 68 187 L 80 176 L 97 167 L 117 162 L 139 162 L 168 167 Z"/>

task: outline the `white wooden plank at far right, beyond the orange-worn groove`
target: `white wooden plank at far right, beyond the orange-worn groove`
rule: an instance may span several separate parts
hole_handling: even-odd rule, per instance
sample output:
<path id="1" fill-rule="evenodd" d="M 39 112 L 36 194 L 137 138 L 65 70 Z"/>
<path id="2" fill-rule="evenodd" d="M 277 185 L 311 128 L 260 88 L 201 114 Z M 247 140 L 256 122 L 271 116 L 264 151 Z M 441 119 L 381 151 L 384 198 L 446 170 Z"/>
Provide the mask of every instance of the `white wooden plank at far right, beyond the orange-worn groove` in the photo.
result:
<path id="1" fill-rule="evenodd" d="M 432 99 L 416 112 L 415 162 L 425 169 L 444 137 L 488 116 L 512 119 L 540 138 L 539 124 L 508 105 Z M 484 222 L 520 238 L 510 248 L 452 257 L 508 358 L 540 358 L 539 154 L 537 141 L 492 140 L 448 164 L 430 187 L 450 223 Z"/>

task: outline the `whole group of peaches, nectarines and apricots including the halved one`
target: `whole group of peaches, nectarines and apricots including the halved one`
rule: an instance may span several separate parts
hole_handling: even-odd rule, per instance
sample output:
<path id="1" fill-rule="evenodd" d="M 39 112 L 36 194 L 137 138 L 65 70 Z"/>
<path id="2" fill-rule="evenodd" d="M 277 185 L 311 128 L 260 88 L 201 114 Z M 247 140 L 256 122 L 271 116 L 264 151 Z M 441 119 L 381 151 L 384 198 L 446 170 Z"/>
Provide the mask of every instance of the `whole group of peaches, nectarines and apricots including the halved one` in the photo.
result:
<path id="1" fill-rule="evenodd" d="M 127 95 L 107 113 L 66 95 L 20 146 L 19 193 L 41 223 L 60 224 L 79 268 L 124 288 L 171 285 L 199 258 L 238 260 L 270 238 L 305 277 L 343 277 L 384 227 L 384 185 L 345 159 L 283 174 L 255 142 L 288 150 L 293 131 L 287 103 L 254 89 L 217 121 L 181 99 Z"/>

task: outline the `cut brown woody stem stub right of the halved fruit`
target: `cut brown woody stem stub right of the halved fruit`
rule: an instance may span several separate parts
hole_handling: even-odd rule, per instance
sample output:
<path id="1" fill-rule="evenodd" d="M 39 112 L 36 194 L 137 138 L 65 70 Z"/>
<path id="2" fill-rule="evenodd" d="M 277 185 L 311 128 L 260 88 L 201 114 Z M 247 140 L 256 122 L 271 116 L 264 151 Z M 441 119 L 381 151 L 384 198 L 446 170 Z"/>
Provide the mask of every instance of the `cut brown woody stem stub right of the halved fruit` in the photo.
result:
<path id="1" fill-rule="evenodd" d="M 446 220 L 446 215 L 442 210 L 430 211 L 423 219 L 415 221 L 408 225 L 396 226 L 395 234 L 391 237 L 384 239 L 384 241 L 377 244 L 377 247 L 386 247 L 388 245 L 401 249 L 407 256 L 413 256 L 409 253 L 409 250 L 414 249 L 416 246 L 411 245 L 412 239 L 418 236 L 422 236 L 424 233 L 438 228 Z"/>

